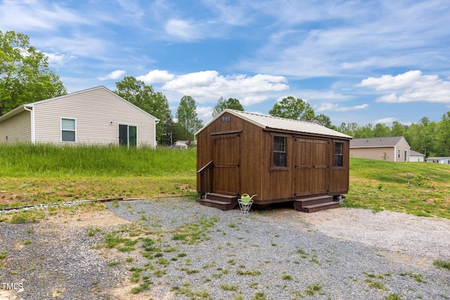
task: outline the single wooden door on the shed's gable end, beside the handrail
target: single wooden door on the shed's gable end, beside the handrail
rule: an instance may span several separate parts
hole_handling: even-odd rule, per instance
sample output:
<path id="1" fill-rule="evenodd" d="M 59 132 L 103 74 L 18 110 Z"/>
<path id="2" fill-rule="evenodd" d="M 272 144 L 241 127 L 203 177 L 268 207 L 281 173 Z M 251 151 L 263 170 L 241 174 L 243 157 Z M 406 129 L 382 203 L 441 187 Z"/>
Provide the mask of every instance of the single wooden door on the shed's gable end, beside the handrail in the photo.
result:
<path id="1" fill-rule="evenodd" d="M 214 175 L 212 192 L 238 195 L 240 192 L 240 134 L 221 134 L 212 140 Z"/>

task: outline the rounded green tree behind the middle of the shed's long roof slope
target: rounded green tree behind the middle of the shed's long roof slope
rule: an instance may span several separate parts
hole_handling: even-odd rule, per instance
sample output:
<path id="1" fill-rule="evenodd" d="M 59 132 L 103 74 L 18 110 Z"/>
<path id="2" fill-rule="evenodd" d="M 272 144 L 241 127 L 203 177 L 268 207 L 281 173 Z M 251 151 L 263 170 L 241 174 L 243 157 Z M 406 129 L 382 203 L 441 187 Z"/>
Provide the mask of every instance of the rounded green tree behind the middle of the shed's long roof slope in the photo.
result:
<path id="1" fill-rule="evenodd" d="M 314 119 L 314 110 L 311 105 L 301 98 L 295 99 L 293 96 L 288 96 L 283 98 L 280 103 L 275 103 L 274 107 L 269 110 L 269 114 L 274 117 L 302 121 Z"/>

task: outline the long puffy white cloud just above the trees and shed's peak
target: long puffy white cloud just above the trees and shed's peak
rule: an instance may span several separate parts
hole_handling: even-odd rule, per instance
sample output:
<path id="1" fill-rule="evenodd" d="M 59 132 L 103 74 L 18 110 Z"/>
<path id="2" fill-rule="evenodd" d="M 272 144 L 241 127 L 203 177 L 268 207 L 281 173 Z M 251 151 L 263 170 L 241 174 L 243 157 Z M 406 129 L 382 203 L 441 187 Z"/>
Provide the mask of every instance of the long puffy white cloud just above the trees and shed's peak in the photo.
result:
<path id="1" fill-rule="evenodd" d="M 193 98 L 204 98 L 204 102 L 217 99 L 238 98 L 243 105 L 261 103 L 271 93 L 289 89 L 285 77 L 257 74 L 221 76 L 217 71 L 202 71 L 179 75 L 162 86 L 167 91 L 177 91 Z M 197 100 L 197 99 L 195 99 Z M 202 99 L 200 99 L 202 100 Z"/>

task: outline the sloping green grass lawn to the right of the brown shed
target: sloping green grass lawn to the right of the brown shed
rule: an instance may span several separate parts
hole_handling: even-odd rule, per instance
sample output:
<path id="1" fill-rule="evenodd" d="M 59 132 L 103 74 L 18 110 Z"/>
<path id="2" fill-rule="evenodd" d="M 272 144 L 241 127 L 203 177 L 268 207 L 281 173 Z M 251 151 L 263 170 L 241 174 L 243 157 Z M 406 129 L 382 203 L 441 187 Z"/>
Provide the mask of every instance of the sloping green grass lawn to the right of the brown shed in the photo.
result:
<path id="1" fill-rule="evenodd" d="M 450 219 L 450 166 L 352 158 L 342 206 Z"/>

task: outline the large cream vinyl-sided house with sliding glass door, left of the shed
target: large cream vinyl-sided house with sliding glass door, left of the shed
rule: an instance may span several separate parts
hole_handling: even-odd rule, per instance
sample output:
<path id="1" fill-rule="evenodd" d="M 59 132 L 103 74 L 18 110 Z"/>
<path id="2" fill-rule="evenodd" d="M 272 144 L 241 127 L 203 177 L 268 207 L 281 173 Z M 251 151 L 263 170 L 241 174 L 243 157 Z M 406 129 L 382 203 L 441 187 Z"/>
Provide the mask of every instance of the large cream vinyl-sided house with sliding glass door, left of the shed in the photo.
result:
<path id="1" fill-rule="evenodd" d="M 23 104 L 0 117 L 0 143 L 156 146 L 153 117 L 104 86 Z"/>

